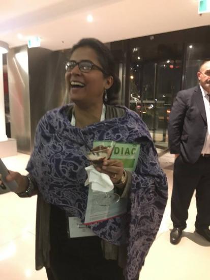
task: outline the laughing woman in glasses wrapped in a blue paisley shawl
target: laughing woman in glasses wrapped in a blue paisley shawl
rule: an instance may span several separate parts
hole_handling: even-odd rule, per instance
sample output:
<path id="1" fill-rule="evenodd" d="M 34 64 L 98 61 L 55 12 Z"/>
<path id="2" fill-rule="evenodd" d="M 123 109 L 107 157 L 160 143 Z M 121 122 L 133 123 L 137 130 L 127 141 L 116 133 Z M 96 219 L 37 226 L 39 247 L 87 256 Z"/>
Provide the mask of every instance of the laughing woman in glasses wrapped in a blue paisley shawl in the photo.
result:
<path id="1" fill-rule="evenodd" d="M 45 266 L 49 280 L 137 280 L 165 209 L 166 176 L 146 125 L 117 105 L 120 82 L 102 42 L 82 39 L 74 45 L 65 79 L 72 103 L 41 118 L 28 175 L 10 171 L 7 176 L 18 183 L 19 197 L 38 193 L 36 268 Z M 93 172 L 106 178 L 120 199 L 114 214 L 83 231 L 92 184 L 86 185 L 90 162 L 82 148 L 105 141 L 118 144 L 123 159 L 104 157 Z M 124 160 L 130 159 L 130 149 L 133 169 Z M 91 206 L 99 207 L 97 215 L 107 212 L 97 200 Z"/>

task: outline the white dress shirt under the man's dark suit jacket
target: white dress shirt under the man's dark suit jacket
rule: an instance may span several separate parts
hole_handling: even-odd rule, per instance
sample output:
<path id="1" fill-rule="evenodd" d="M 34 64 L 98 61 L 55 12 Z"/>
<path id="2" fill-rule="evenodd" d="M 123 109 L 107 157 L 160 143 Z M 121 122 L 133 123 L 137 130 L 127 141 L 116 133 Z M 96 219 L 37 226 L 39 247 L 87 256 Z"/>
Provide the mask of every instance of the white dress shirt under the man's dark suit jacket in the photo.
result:
<path id="1" fill-rule="evenodd" d="M 205 105 L 205 113 L 207 119 L 207 131 L 206 131 L 205 142 L 201 154 L 210 154 L 210 100 L 209 100 L 210 97 L 207 96 L 207 92 L 201 87 L 201 85 L 200 85 L 200 89 L 203 95 L 203 101 Z"/>

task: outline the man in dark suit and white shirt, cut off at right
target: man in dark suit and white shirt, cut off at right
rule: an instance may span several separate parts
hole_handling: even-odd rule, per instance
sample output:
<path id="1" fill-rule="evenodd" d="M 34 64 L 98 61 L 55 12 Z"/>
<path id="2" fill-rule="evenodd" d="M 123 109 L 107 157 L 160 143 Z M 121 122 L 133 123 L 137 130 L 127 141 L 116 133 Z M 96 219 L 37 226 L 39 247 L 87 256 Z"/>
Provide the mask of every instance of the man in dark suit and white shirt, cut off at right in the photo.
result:
<path id="1" fill-rule="evenodd" d="M 182 238 L 194 190 L 195 231 L 210 242 L 210 60 L 201 64 L 197 76 L 199 85 L 177 93 L 169 116 L 169 146 L 175 154 L 172 244 Z"/>

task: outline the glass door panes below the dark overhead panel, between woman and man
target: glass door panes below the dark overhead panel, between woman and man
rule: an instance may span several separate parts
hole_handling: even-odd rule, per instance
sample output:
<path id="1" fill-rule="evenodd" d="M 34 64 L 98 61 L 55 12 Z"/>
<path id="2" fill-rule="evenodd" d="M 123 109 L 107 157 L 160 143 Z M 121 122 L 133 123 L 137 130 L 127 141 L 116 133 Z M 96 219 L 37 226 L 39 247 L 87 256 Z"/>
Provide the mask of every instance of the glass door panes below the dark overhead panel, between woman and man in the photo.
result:
<path id="1" fill-rule="evenodd" d="M 131 65 L 130 108 L 146 123 L 157 148 L 168 148 L 168 117 L 181 87 L 182 61 L 135 62 Z"/>

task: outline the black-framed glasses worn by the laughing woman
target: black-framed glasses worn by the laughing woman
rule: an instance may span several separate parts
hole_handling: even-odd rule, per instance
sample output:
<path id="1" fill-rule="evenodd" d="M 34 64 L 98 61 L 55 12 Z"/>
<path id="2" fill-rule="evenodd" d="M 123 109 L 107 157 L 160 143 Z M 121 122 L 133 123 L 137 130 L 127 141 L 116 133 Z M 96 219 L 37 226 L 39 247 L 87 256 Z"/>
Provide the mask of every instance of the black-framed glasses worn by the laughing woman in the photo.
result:
<path id="1" fill-rule="evenodd" d="M 66 61 L 65 62 L 65 68 L 66 68 L 66 71 L 71 71 L 72 69 L 74 69 L 74 67 L 78 65 L 79 66 L 79 70 L 81 72 L 84 72 L 84 73 L 88 73 L 90 72 L 92 69 L 98 69 L 100 70 L 102 73 L 105 74 L 104 70 L 99 67 L 98 65 L 94 64 L 92 61 L 89 61 L 89 60 L 81 60 L 79 62 L 76 62 L 75 60 L 70 60 L 70 61 Z"/>

